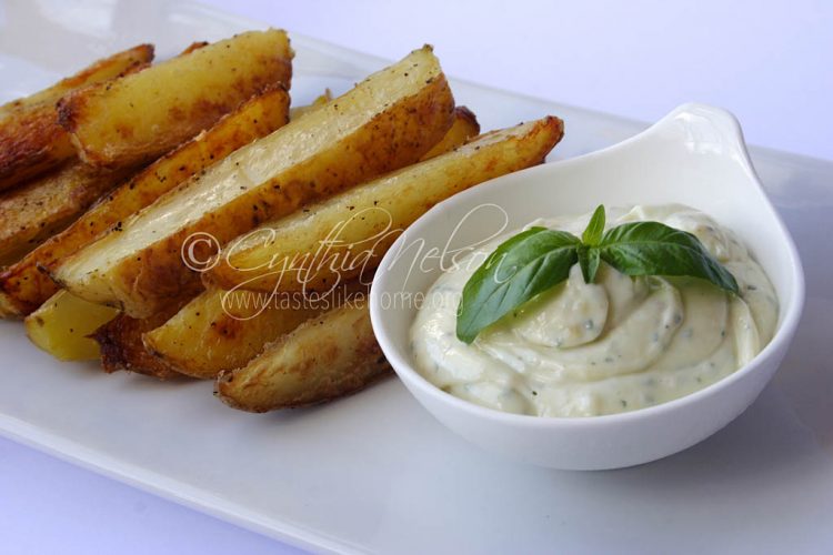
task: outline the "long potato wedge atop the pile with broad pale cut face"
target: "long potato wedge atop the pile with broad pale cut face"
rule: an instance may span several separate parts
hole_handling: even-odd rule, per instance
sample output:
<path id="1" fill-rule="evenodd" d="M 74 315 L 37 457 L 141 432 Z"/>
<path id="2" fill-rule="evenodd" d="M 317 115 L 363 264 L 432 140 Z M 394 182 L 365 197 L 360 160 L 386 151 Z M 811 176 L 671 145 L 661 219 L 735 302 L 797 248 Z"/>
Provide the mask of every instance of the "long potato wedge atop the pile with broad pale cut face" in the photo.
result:
<path id="1" fill-rule="evenodd" d="M 52 276 L 88 301 L 153 314 L 201 291 L 197 270 L 219 245 L 419 160 L 449 130 L 453 109 L 431 48 L 416 50 L 170 191 Z"/>

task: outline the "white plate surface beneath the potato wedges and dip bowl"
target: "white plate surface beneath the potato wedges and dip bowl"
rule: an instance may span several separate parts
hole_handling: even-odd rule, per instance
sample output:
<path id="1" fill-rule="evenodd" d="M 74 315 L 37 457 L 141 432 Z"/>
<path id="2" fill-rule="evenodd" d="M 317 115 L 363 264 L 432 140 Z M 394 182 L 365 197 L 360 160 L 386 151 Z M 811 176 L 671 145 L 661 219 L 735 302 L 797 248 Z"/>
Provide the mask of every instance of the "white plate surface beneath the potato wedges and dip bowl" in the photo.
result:
<path id="1" fill-rule="evenodd" d="M 168 57 L 193 40 L 263 27 L 191 2 L 7 2 L 0 101 L 117 48 L 150 41 Z M 384 65 L 292 39 L 299 103 L 324 87 L 342 92 Z M 442 59 L 442 46 L 436 53 Z M 452 87 L 483 129 L 562 117 L 566 137 L 552 160 L 644 128 L 454 80 Z M 159 384 L 53 361 L 12 322 L 0 322 L 0 433 L 317 551 L 819 551 L 833 544 L 822 521 L 833 514 L 833 163 L 761 149 L 752 158 L 801 251 L 804 317 L 752 407 L 663 461 L 602 473 L 506 462 L 452 435 L 395 380 L 317 408 L 238 413 L 212 398 L 209 383 Z"/>

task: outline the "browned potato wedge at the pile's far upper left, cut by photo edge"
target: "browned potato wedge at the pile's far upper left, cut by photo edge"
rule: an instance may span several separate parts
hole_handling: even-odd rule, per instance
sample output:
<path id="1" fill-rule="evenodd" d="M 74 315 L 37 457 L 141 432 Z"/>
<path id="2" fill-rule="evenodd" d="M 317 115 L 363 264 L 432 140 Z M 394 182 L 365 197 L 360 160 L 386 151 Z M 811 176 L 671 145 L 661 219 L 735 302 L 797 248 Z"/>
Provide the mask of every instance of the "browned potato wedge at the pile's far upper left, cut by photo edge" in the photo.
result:
<path id="1" fill-rule="evenodd" d="M 58 122 L 56 102 L 62 95 L 138 71 L 152 59 L 153 47 L 140 44 L 99 60 L 49 89 L 0 108 L 0 191 L 76 155 L 69 134 Z"/>

